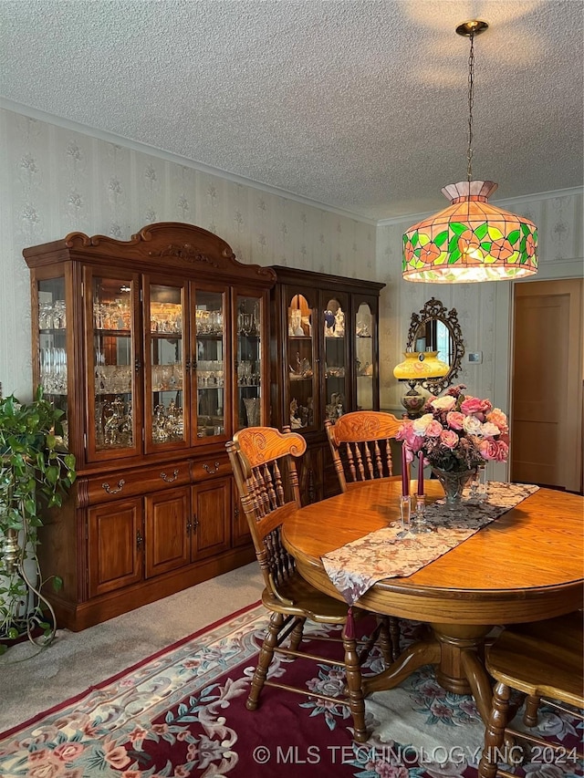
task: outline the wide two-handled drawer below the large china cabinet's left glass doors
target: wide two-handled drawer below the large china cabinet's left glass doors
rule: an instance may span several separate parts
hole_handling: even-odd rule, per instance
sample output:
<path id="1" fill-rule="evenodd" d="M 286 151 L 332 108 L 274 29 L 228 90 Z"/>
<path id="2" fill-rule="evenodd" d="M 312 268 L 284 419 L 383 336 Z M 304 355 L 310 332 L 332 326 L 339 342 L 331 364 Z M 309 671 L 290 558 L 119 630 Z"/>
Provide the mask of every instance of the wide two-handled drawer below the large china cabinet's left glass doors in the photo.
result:
<path id="1" fill-rule="evenodd" d="M 78 495 L 80 505 L 109 503 L 123 497 L 160 492 L 171 486 L 183 486 L 191 479 L 189 462 L 164 462 L 140 470 L 120 470 L 80 479 Z M 85 481 L 85 483 L 84 483 Z M 86 487 L 87 493 L 86 493 Z M 87 502 L 86 502 L 87 501 Z"/>

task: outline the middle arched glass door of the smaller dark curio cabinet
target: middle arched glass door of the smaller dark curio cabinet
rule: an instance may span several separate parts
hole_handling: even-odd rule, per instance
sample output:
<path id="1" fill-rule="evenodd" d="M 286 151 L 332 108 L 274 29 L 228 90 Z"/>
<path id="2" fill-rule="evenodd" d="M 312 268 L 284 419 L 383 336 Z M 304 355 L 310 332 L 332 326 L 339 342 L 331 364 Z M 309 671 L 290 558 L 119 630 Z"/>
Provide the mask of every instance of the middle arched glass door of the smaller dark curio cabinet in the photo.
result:
<path id="1" fill-rule="evenodd" d="M 324 337 L 324 419 L 335 421 L 349 407 L 349 370 L 347 369 L 349 304 L 347 296 L 325 295 L 322 332 Z"/>

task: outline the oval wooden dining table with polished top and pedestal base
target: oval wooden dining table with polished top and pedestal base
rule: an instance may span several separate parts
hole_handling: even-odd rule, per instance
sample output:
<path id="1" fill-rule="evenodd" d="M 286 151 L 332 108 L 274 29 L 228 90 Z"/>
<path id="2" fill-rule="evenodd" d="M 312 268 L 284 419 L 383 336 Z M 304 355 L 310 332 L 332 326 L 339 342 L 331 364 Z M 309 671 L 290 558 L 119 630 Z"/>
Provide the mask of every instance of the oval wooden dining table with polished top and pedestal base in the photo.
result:
<path id="1" fill-rule="evenodd" d="M 437 481 L 426 481 L 424 489 L 429 502 L 443 497 Z M 282 539 L 300 575 L 342 600 L 321 557 L 397 522 L 400 494 L 399 480 L 371 481 L 290 513 Z M 582 607 L 583 527 L 584 498 L 542 488 L 411 576 L 371 586 L 357 606 L 427 622 L 432 629 L 390 667 L 366 679 L 365 693 L 391 689 L 415 669 L 433 664 L 443 688 L 472 693 L 486 721 L 492 690 L 485 639 L 498 625 Z"/>

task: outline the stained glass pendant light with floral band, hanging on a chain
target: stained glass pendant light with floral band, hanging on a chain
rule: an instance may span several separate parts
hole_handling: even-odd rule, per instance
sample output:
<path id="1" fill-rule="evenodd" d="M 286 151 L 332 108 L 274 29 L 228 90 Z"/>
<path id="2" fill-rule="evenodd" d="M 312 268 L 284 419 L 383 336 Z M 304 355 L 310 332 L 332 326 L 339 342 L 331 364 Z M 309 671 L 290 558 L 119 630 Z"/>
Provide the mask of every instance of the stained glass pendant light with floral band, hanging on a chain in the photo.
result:
<path id="1" fill-rule="evenodd" d="M 458 35 L 470 38 L 467 180 L 445 186 L 442 192 L 451 204 L 404 233 L 406 281 L 454 284 L 514 280 L 537 273 L 536 225 L 487 202 L 495 182 L 472 180 L 474 36 L 487 27 L 476 19 L 456 27 Z"/>

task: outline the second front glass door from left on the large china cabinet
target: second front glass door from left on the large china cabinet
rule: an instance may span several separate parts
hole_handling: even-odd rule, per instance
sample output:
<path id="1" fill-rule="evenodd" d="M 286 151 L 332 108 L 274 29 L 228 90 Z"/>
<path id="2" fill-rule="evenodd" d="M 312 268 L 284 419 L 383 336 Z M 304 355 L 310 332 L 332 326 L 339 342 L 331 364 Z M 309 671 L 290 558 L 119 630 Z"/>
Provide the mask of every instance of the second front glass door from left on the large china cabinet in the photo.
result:
<path id="1" fill-rule="evenodd" d="M 144 284 L 146 330 L 146 450 L 177 448 L 189 440 L 185 429 L 184 287 Z M 188 419 L 186 420 L 188 424 Z"/>

